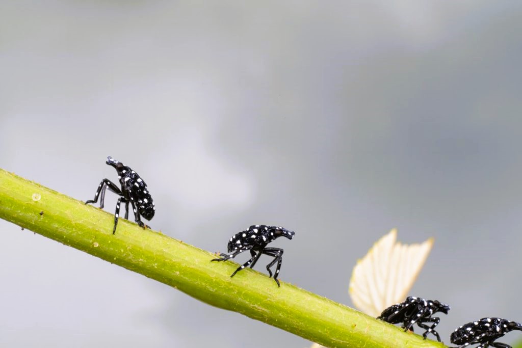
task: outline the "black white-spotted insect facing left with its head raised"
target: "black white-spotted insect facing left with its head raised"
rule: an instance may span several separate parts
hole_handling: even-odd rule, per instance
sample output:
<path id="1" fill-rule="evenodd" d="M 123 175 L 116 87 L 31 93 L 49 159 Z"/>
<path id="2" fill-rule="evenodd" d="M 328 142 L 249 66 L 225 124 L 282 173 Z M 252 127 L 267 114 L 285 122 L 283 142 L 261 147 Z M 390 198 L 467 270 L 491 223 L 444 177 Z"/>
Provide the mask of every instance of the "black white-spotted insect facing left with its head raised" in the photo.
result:
<path id="1" fill-rule="evenodd" d="M 156 208 L 154 207 L 152 197 L 150 197 L 147 184 L 145 184 L 138 173 L 133 171 L 130 167 L 123 165 L 123 163 L 112 159 L 110 156 L 107 158 L 105 163 L 112 165 L 114 169 L 116 169 L 121 189 L 109 179 L 103 179 L 96 190 L 94 199 L 86 201 L 85 204 L 96 203 L 98 202 L 98 199 L 100 199 L 100 208 L 103 208 L 105 189 L 109 188 L 115 194 L 120 196 L 116 203 L 114 229 L 112 230 L 112 234 L 116 232 L 118 218 L 120 217 L 120 205 L 122 202 L 125 203 L 125 219 L 128 219 L 129 203 L 131 203 L 136 223 L 143 228 L 148 227 L 141 221 L 140 217 L 144 217 L 147 220 L 152 219 Z"/>

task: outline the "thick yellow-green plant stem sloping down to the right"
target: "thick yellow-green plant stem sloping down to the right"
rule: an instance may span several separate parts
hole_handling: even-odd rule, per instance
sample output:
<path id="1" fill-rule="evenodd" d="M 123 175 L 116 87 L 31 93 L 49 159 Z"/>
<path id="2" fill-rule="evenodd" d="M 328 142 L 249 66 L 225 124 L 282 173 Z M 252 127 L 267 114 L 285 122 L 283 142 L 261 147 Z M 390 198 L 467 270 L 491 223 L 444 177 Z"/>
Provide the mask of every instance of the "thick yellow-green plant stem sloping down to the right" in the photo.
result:
<path id="1" fill-rule="evenodd" d="M 1 169 L 0 218 L 327 347 L 444 347 Z"/>

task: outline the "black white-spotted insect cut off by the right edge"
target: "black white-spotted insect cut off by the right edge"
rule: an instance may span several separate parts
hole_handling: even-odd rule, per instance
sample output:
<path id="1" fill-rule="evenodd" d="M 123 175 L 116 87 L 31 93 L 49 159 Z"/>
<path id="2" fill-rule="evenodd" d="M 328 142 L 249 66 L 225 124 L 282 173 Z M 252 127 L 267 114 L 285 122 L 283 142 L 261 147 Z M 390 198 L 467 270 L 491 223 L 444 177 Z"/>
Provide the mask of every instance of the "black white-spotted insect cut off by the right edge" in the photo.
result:
<path id="1" fill-rule="evenodd" d="M 512 348 L 511 345 L 495 342 L 509 331 L 522 331 L 522 324 L 501 318 L 482 318 L 459 326 L 452 332 L 450 340 L 464 348 L 470 344 L 479 344 L 476 348 Z"/>

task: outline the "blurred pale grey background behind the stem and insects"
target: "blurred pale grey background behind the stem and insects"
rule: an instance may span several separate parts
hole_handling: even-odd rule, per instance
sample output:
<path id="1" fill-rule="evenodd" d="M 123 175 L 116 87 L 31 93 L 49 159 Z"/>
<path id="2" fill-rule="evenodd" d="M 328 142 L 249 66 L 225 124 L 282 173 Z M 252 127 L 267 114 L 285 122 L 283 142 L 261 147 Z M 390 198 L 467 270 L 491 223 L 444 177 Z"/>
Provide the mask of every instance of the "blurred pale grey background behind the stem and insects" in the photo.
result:
<path id="1" fill-rule="evenodd" d="M 281 279 L 347 305 L 379 237 L 434 236 L 412 295 L 453 307 L 448 343 L 477 318 L 522 321 L 521 33 L 517 1 L 3 1 L 0 167 L 87 200 L 116 179 L 111 155 L 147 182 L 154 229 L 226 251 L 283 225 Z M 1 346 L 310 345 L 0 233 Z"/>

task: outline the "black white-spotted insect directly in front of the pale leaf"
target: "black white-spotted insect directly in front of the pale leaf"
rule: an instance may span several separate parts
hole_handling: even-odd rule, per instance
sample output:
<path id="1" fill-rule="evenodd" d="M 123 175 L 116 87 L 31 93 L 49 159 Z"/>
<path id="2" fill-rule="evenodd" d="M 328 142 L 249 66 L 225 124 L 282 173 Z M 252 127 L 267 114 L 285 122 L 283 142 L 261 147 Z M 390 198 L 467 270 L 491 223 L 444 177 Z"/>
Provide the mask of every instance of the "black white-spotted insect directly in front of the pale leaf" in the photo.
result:
<path id="1" fill-rule="evenodd" d="M 429 333 L 433 333 L 438 342 L 441 342 L 441 337 L 435 331 L 435 327 L 441 321 L 438 317 L 432 317 L 433 314 L 441 312 L 448 314 L 449 306 L 438 301 L 431 301 L 420 297 L 408 296 L 405 302 L 389 306 L 377 319 L 384 320 L 392 324 L 402 323 L 404 331 L 413 331 L 413 325 L 417 325 L 425 329 L 422 337 L 426 339 Z M 432 323 L 431 326 L 426 323 Z"/>

